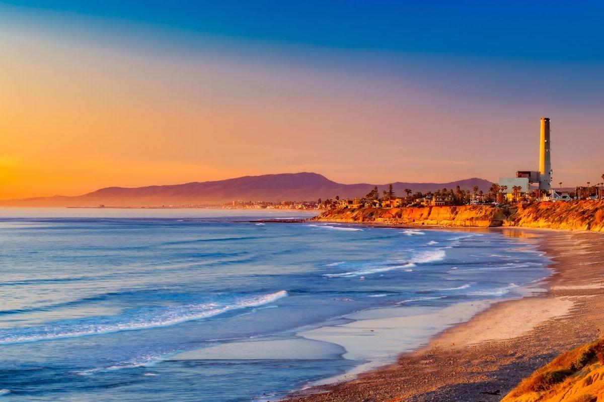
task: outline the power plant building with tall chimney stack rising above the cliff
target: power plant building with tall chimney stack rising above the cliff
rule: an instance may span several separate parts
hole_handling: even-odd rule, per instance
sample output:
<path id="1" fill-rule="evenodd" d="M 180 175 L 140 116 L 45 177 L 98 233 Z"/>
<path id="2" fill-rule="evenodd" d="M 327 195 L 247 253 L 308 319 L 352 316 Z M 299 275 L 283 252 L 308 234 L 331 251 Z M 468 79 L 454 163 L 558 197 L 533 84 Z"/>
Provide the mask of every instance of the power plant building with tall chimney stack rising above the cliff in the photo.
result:
<path id="1" fill-rule="evenodd" d="M 539 171 L 517 171 L 516 177 L 501 177 L 500 187 L 505 193 L 511 193 L 513 187 L 520 187 L 522 193 L 528 193 L 531 184 L 539 186 L 539 190 L 551 191 L 551 142 L 550 119 L 541 118 L 539 135 Z"/>

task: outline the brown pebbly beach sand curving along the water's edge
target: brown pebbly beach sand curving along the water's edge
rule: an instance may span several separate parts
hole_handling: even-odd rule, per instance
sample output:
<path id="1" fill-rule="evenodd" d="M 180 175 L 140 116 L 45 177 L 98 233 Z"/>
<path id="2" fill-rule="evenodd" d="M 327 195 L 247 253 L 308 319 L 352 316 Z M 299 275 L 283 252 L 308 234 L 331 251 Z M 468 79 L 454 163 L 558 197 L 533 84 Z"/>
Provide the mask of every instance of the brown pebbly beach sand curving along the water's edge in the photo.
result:
<path id="1" fill-rule="evenodd" d="M 539 248 L 553 260 L 550 268 L 554 274 L 547 280 L 547 292 L 493 304 L 469 321 L 443 331 L 420 350 L 401 354 L 396 363 L 364 372 L 350 381 L 297 392 L 287 400 L 498 401 L 557 354 L 602 335 L 602 234 L 493 230 L 504 236 L 537 239 Z M 382 325 L 387 325 L 385 320 Z M 315 335 L 315 339 L 338 343 L 329 339 L 329 333 Z M 363 341 L 359 342 L 361 346 L 356 344 L 354 348 L 356 354 L 362 349 Z M 367 344 L 368 349 L 375 347 Z"/>

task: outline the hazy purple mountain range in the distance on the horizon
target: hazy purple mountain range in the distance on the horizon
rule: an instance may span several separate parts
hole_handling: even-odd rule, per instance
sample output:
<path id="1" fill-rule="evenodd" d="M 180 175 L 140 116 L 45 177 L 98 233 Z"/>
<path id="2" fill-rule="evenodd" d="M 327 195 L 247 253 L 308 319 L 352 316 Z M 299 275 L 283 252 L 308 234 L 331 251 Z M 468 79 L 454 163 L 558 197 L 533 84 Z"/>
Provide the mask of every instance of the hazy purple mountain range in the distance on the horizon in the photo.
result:
<path id="1" fill-rule="evenodd" d="M 392 183 L 398 195 L 408 188 L 413 192 L 435 191 L 446 187 L 469 189 L 478 186 L 486 191 L 491 182 L 481 178 L 451 181 L 450 183 Z M 313 201 L 318 198 L 361 197 L 374 184 L 341 184 L 316 173 L 286 173 L 262 176 L 245 176 L 228 180 L 146 186 L 136 188 L 107 187 L 80 196 L 51 196 L 0 201 L 0 206 L 29 207 L 95 207 L 106 206 L 162 206 L 182 204 L 228 203 L 233 199 L 243 201 Z M 380 191 L 388 184 L 379 184 Z"/>

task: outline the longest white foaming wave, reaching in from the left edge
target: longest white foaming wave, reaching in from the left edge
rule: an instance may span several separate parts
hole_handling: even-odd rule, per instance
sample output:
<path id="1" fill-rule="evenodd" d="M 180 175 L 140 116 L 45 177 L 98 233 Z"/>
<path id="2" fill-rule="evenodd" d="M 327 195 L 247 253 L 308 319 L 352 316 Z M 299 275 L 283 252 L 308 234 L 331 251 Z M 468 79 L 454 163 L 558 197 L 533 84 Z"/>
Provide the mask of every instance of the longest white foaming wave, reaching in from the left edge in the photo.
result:
<path id="1" fill-rule="evenodd" d="M 210 318 L 230 310 L 259 307 L 264 304 L 286 297 L 288 292 L 278 291 L 271 294 L 257 295 L 246 298 L 236 298 L 231 304 L 203 303 L 184 306 L 170 306 L 161 310 L 147 313 L 137 313 L 131 318 L 106 317 L 96 321 L 70 322 L 65 324 L 50 324 L 43 327 L 30 327 L 15 330 L 0 331 L 0 344 L 16 344 L 21 342 L 47 341 L 61 338 L 74 338 L 106 334 L 118 331 L 143 330 L 148 328 L 166 327 L 181 322 Z"/>

